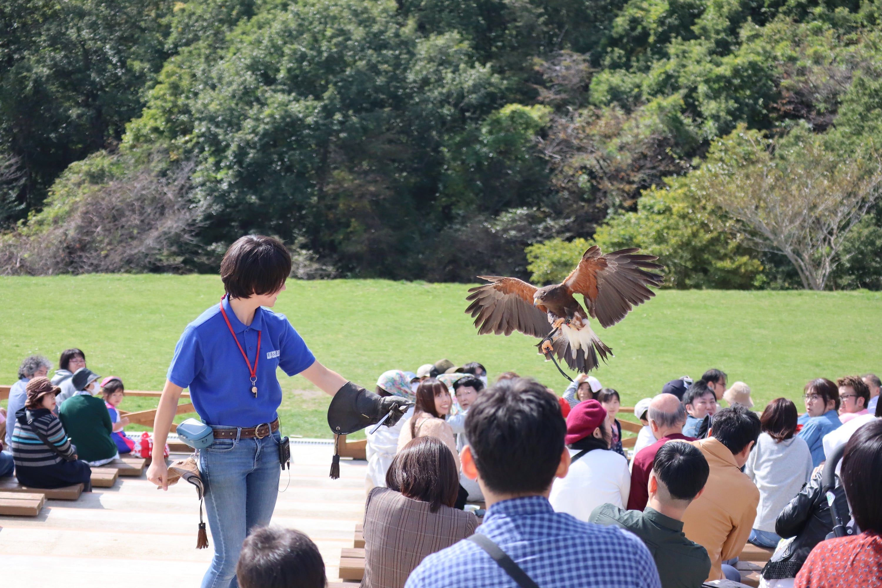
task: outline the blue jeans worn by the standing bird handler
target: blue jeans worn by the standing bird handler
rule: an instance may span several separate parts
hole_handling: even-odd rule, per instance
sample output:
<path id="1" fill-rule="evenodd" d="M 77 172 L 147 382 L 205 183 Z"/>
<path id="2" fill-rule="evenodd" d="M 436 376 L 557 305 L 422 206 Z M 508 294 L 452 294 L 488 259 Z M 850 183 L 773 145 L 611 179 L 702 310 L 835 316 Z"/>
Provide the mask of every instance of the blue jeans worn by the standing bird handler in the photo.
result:
<path id="1" fill-rule="evenodd" d="M 215 427 L 215 429 L 232 429 Z M 235 564 L 251 529 L 268 525 L 279 494 L 279 431 L 263 439 L 215 439 L 199 451 L 214 558 L 202 588 L 235 588 Z"/>

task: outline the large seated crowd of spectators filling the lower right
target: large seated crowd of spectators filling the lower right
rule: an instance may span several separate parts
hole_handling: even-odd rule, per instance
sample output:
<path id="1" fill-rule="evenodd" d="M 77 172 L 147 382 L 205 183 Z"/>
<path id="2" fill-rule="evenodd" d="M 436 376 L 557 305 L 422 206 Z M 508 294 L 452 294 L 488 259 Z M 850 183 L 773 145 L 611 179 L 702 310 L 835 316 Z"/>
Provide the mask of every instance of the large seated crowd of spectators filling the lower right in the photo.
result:
<path id="1" fill-rule="evenodd" d="M 579 376 L 560 402 L 511 372 L 487 388 L 480 364 L 448 363 L 377 381 L 415 407 L 368 436 L 363 586 L 697 588 L 739 581 L 748 542 L 776 548 L 762 571 L 769 588 L 882 585 L 876 376 L 811 381 L 803 417 L 786 398 L 754 413 L 747 384 L 727 388 L 719 370 L 671 381 L 635 406 L 652 439 L 629 472 L 613 447 L 618 395 L 596 378 Z M 842 425 L 845 414 L 855 416 Z M 824 461 L 842 446 L 841 475 L 826 488 Z M 848 528 L 840 538 L 827 489 Z M 481 525 L 461 510 L 466 500 L 485 503 Z M 315 553 L 298 532 L 263 529 L 246 541 L 239 583 L 318 588 Z M 294 577 L 272 569 L 282 560 L 314 569 L 303 581 L 250 580 Z"/>

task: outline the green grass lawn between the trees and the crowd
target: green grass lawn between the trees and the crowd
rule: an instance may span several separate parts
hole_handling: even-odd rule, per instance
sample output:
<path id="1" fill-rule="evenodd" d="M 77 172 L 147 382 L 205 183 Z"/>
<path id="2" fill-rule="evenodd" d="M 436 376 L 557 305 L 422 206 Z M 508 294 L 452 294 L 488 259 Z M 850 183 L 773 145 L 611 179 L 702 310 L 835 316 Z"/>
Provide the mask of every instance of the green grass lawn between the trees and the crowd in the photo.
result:
<path id="1" fill-rule="evenodd" d="M 385 280 L 288 282 L 275 310 L 329 368 L 370 389 L 386 369 L 415 370 L 448 358 L 480 361 L 534 376 L 562 393 L 567 383 L 535 354 L 535 339 L 479 337 L 464 314 L 467 286 Z M 19 361 L 67 347 L 86 351 L 89 368 L 121 376 L 131 390 L 161 390 L 183 328 L 223 293 L 215 276 L 88 275 L 0 278 L 0 383 Z M 761 408 L 798 401 L 811 378 L 882 371 L 882 294 L 664 290 L 609 330 L 595 327 L 616 354 L 595 372 L 624 406 L 688 374 L 721 368 L 751 386 Z M 279 372 L 287 435 L 330 436 L 329 398 L 303 377 Z M 125 410 L 156 405 L 126 398 Z M 802 405 L 797 404 L 802 411 Z M 181 415 L 177 421 L 187 415 Z M 137 429 L 137 428 L 132 428 Z"/>

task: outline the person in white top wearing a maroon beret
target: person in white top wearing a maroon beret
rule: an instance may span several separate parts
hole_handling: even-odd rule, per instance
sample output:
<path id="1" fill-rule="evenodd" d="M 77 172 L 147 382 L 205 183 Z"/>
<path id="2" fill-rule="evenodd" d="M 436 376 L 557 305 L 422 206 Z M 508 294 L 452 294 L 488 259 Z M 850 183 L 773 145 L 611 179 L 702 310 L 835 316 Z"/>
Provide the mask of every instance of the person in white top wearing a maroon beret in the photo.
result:
<path id="1" fill-rule="evenodd" d="M 609 502 L 623 508 L 631 494 L 628 460 L 609 450 L 607 413 L 596 400 L 576 405 L 566 418 L 565 443 L 572 464 L 551 485 L 549 502 L 557 512 L 588 521 L 595 507 Z"/>

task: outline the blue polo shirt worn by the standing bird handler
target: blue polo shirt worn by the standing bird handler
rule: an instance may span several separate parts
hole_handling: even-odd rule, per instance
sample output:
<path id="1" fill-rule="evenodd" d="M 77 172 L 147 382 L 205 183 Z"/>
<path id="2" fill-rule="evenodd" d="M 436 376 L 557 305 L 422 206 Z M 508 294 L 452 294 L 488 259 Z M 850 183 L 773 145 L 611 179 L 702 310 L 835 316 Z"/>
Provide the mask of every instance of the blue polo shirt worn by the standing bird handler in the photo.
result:
<path id="1" fill-rule="evenodd" d="M 183 331 L 168 367 L 168 381 L 190 388 L 193 406 L 208 425 L 255 427 L 275 421 L 281 404 L 276 368 L 294 376 L 309 368 L 316 358 L 285 315 L 260 307 L 251 324 L 245 326 L 236 318 L 228 299 L 224 298 L 222 304 L 251 366 L 257 358 L 260 332 L 258 398 L 251 394 L 248 366 L 218 304 Z"/>

